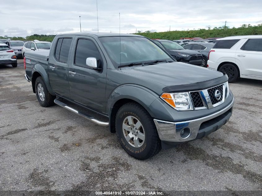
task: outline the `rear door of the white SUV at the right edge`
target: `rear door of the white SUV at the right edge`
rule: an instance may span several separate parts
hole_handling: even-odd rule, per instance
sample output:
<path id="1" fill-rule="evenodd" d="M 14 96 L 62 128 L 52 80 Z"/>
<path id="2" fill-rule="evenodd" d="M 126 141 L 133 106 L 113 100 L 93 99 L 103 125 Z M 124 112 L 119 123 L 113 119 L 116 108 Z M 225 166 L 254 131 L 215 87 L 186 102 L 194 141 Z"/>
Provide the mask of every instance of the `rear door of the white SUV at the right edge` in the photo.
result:
<path id="1" fill-rule="evenodd" d="M 262 38 L 247 39 L 236 51 L 242 75 L 262 77 Z"/>

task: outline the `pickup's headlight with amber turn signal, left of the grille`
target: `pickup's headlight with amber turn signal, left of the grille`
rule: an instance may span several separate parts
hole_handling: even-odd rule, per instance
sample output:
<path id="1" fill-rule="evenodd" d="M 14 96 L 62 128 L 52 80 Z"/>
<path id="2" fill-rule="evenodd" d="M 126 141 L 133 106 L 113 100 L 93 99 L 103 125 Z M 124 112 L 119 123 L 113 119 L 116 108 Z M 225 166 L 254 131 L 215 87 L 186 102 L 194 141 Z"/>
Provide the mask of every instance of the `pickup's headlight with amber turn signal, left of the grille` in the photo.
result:
<path id="1" fill-rule="evenodd" d="M 163 93 L 160 97 L 175 110 L 193 110 L 192 102 L 188 92 Z"/>

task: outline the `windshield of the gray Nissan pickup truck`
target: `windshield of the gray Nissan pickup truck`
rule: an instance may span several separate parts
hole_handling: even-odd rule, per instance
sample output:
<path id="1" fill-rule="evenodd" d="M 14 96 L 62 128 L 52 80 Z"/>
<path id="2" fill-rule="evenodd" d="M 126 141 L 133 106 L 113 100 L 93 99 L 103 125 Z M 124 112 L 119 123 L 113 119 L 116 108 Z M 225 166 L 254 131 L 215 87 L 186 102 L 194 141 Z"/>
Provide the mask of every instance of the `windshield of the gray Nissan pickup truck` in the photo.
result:
<path id="1" fill-rule="evenodd" d="M 117 68 L 123 64 L 145 63 L 148 61 L 173 61 L 161 48 L 145 37 L 100 37 L 110 60 Z"/>

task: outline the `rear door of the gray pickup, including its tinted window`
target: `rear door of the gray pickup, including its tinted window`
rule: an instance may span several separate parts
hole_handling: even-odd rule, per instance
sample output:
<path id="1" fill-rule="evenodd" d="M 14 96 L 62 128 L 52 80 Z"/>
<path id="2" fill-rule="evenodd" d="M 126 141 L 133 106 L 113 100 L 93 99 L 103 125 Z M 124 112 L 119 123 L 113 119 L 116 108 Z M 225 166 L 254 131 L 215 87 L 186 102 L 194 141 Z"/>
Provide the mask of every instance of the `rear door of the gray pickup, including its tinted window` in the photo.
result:
<path id="1" fill-rule="evenodd" d="M 75 36 L 57 37 L 49 54 L 48 74 L 52 90 L 64 97 L 70 98 L 68 84 L 68 62 L 71 45 Z"/>

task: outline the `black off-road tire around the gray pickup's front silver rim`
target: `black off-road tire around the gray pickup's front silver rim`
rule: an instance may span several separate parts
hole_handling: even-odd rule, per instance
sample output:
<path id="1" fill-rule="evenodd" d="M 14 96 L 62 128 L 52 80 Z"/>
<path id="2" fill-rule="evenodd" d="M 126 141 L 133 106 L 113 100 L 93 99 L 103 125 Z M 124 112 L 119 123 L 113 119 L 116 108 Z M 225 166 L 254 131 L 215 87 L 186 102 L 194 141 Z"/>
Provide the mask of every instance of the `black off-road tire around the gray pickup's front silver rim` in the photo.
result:
<path id="1" fill-rule="evenodd" d="M 131 146 L 124 136 L 122 126 L 127 116 L 133 116 L 140 120 L 144 128 L 145 140 L 144 144 L 139 148 Z M 135 102 L 129 102 L 120 107 L 116 114 L 115 127 L 121 146 L 132 157 L 144 160 L 158 154 L 161 150 L 161 140 L 158 137 L 153 118 L 141 105 Z"/>

